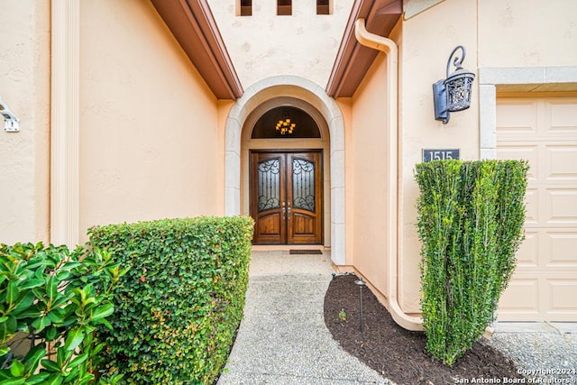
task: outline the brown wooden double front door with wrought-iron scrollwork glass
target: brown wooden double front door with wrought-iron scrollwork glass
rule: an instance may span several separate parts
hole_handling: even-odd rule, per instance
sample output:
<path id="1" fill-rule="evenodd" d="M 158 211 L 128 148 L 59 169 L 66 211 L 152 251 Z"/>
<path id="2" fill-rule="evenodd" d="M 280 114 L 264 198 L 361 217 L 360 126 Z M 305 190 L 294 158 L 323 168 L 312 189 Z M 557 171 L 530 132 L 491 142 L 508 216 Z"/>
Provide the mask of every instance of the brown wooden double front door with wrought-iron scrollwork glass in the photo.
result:
<path id="1" fill-rule="evenodd" d="M 252 151 L 250 168 L 253 243 L 322 243 L 321 151 Z"/>

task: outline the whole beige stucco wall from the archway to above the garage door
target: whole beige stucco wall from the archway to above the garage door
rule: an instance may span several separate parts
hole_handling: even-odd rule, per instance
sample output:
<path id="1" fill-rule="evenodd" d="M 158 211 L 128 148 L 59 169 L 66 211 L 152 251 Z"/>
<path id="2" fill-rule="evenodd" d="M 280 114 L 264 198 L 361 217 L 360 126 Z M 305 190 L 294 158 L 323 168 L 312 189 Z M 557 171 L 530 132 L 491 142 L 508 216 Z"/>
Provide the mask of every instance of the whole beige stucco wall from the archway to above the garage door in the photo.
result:
<path id="1" fill-rule="evenodd" d="M 419 310 L 414 168 L 421 161 L 422 150 L 458 148 L 463 160 L 480 157 L 479 78 L 473 87 L 471 108 L 452 114 L 446 125 L 434 120 L 432 84 L 445 78 L 449 54 L 457 45 L 467 50 L 463 67 L 474 73 L 480 67 L 543 70 L 547 66 L 575 66 L 577 50 L 570 47 L 577 47 L 577 24 L 572 20 L 576 12 L 577 4 L 566 0 L 445 0 L 411 15 L 392 33 L 399 47 L 398 298 L 406 313 Z M 383 132 L 389 128 L 382 125 L 386 116 L 381 105 L 386 70 L 384 54 L 380 53 L 353 96 L 353 126 L 347 127 L 347 132 L 352 132 L 347 159 L 353 157 L 354 182 L 353 191 L 347 191 L 347 202 L 353 201 L 353 256 L 347 261 L 352 259 L 355 268 L 388 295 L 388 271 L 383 260 L 395 256 L 384 254 L 388 240 L 383 234 L 391 223 L 387 216 L 392 214 L 386 213 L 383 199 L 387 197 L 380 190 L 384 189 L 386 173 L 393 170 L 382 160 L 377 163 L 380 167 L 373 164 L 384 158 L 386 151 Z M 523 83 L 521 76 L 518 83 Z"/>

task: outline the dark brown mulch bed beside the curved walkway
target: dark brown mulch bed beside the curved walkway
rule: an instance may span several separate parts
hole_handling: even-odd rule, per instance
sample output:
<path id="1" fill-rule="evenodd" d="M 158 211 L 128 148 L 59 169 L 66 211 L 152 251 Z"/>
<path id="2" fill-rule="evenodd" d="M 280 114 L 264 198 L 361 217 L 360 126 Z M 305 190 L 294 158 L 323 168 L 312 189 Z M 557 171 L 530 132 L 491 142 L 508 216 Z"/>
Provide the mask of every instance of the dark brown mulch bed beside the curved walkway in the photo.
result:
<path id="1" fill-rule="evenodd" d="M 426 337 L 398 326 L 379 300 L 362 290 L 364 330 L 361 333 L 359 288 L 354 275 L 334 277 L 325 295 L 325 324 L 343 349 L 398 384 L 485 383 L 481 379 L 522 379 L 503 354 L 477 343 L 453 368 L 433 359 L 425 350 Z M 339 312 L 346 313 L 346 322 Z M 494 382 L 491 382 L 494 383 Z"/>

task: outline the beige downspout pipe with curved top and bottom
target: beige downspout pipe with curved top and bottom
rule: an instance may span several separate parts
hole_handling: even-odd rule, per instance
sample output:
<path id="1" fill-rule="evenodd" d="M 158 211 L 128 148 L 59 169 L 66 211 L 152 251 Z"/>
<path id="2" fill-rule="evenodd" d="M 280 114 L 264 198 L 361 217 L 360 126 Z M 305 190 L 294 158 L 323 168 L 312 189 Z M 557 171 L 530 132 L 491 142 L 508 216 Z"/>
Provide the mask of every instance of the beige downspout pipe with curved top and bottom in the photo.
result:
<path id="1" fill-rule="evenodd" d="M 386 37 L 368 32 L 364 19 L 357 19 L 354 23 L 354 35 L 365 47 L 380 50 L 387 55 L 387 115 L 389 117 L 389 213 L 394 213 L 395 224 L 389 225 L 389 279 L 388 295 L 389 312 L 395 322 L 408 330 L 423 330 L 423 319 L 409 316 L 398 305 L 398 48 L 395 41 Z"/>

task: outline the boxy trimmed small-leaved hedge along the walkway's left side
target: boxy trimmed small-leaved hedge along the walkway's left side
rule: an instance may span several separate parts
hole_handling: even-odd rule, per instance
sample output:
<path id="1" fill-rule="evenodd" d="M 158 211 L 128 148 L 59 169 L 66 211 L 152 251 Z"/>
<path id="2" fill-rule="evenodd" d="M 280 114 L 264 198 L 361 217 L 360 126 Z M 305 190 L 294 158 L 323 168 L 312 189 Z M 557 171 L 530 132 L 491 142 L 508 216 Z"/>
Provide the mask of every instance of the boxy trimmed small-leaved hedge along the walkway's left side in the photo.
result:
<path id="1" fill-rule="evenodd" d="M 212 383 L 243 317 L 252 219 L 198 217 L 109 225 L 90 243 L 130 267 L 101 338 L 128 383 Z"/>

